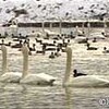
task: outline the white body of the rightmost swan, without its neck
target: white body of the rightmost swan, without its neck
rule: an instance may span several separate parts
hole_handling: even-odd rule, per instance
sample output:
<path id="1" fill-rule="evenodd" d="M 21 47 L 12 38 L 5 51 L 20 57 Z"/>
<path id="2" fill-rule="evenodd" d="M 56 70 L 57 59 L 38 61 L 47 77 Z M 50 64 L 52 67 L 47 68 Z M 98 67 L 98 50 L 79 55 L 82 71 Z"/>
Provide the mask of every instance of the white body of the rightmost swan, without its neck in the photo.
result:
<path id="1" fill-rule="evenodd" d="M 105 87 L 109 86 L 109 81 L 96 75 L 86 75 L 73 77 L 65 85 L 74 87 Z"/>

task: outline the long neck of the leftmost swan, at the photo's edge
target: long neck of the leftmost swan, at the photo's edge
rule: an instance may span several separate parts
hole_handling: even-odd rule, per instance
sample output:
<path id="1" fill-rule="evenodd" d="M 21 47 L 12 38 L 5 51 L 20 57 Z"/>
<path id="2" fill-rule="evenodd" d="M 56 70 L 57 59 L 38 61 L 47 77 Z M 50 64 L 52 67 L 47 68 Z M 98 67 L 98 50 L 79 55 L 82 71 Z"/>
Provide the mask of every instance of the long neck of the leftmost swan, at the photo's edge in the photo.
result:
<path id="1" fill-rule="evenodd" d="M 4 45 L 1 46 L 2 51 L 2 74 L 7 72 L 7 47 Z"/>

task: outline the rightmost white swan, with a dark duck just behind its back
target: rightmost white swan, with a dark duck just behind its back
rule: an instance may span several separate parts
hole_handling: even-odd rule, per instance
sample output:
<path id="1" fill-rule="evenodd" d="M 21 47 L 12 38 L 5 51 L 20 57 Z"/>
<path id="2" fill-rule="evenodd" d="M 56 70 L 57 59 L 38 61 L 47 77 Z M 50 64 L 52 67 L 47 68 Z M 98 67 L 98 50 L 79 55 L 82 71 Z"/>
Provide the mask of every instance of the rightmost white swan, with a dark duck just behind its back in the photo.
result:
<path id="1" fill-rule="evenodd" d="M 109 78 L 104 75 L 83 75 L 77 77 L 71 77 L 71 64 L 72 64 L 72 49 L 66 47 L 66 69 L 63 77 L 63 86 L 74 87 L 105 87 L 109 86 Z"/>

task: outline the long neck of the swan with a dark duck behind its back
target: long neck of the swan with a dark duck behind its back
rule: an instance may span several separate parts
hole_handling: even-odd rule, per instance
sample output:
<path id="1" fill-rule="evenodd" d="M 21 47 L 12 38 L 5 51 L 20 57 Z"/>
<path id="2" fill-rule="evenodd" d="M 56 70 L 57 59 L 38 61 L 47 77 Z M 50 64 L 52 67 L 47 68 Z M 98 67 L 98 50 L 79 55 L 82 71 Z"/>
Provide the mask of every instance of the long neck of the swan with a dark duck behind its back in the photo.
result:
<path id="1" fill-rule="evenodd" d="M 66 69 L 65 69 L 63 85 L 68 83 L 70 80 L 71 64 L 72 64 L 72 49 L 71 47 L 68 47 L 66 48 Z"/>

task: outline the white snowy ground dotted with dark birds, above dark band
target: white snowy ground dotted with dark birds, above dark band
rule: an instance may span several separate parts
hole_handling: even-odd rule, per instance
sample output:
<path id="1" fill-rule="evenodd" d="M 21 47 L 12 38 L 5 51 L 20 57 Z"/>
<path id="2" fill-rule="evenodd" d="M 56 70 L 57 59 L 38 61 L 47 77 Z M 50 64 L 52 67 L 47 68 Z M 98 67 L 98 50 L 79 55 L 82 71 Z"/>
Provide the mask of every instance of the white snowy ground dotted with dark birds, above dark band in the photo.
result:
<path id="1" fill-rule="evenodd" d="M 108 0 L 0 0 L 0 24 L 108 16 Z"/>

